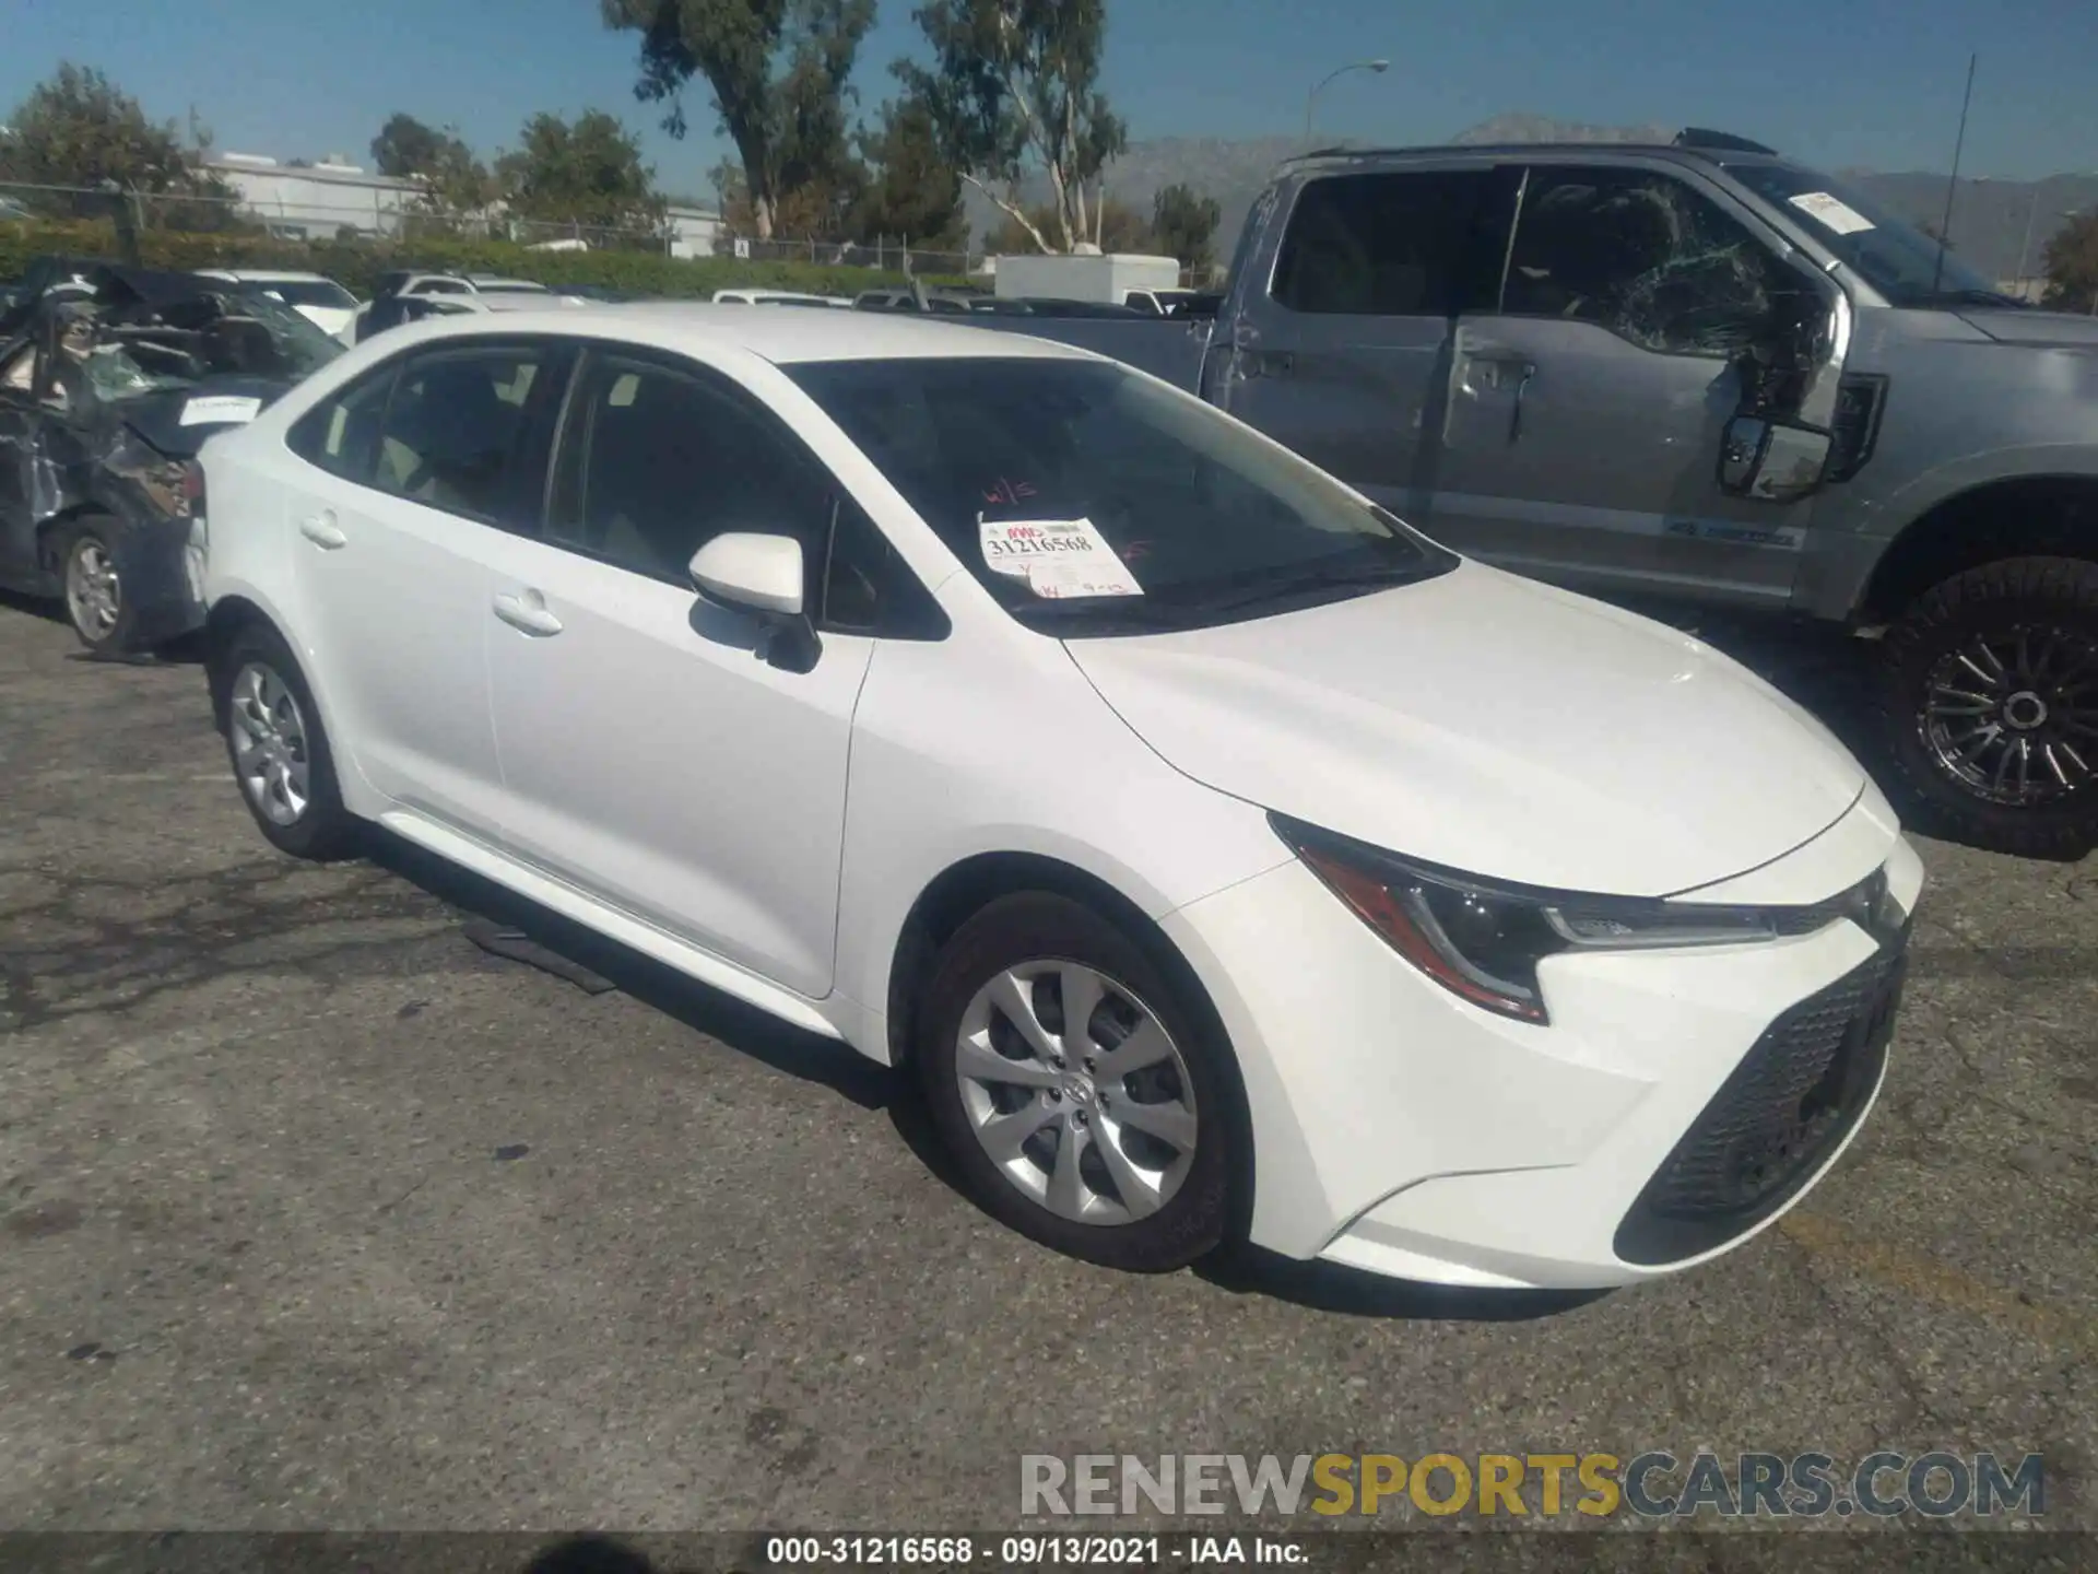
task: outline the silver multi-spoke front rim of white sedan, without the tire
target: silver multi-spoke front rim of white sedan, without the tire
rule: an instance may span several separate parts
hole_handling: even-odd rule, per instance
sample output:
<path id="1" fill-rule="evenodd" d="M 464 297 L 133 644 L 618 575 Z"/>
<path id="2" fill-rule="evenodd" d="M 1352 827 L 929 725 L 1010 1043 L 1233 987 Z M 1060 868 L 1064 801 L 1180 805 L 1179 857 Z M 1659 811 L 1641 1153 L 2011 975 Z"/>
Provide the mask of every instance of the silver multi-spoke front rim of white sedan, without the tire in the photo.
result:
<path id="1" fill-rule="evenodd" d="M 963 1012 L 955 1075 L 992 1165 L 1062 1219 L 1131 1224 L 1187 1179 L 1198 1135 L 1187 1062 L 1158 1016 L 1093 967 L 999 972 Z"/>

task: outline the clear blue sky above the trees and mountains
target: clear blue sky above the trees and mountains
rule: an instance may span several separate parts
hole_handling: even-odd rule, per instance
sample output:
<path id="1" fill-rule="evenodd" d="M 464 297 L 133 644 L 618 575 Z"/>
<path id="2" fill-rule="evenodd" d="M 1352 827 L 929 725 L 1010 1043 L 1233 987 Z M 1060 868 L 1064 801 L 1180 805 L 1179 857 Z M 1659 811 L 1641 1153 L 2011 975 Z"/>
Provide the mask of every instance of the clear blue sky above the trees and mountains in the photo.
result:
<path id="1" fill-rule="evenodd" d="M 535 109 L 608 109 L 667 189 L 720 157 L 705 84 L 678 143 L 634 101 L 634 38 L 596 0 L 0 0 L 0 113 L 61 59 L 99 65 L 149 113 L 191 107 L 224 151 L 359 162 L 407 109 L 480 151 Z M 911 0 L 881 0 L 862 105 L 913 48 Z M 1305 88 L 1320 132 L 1441 141 L 1502 111 L 1701 124 L 1798 157 L 1943 170 L 1970 48 L 1981 76 L 1966 170 L 2098 170 L 2098 6 L 2088 0 L 1110 0 L 1106 88 L 1133 136 L 1288 136 Z"/>

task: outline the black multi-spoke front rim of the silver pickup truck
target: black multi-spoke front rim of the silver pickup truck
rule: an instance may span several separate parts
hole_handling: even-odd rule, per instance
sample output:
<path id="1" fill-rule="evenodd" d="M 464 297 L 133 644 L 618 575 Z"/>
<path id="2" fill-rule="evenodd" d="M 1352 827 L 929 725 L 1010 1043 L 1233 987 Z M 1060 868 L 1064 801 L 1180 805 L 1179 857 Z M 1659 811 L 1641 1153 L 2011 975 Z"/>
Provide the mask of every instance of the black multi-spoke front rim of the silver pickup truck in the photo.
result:
<path id="1" fill-rule="evenodd" d="M 1939 768 L 1976 797 L 2054 804 L 2098 762 L 2098 640 L 2016 623 L 1939 657 L 1922 711 Z"/>

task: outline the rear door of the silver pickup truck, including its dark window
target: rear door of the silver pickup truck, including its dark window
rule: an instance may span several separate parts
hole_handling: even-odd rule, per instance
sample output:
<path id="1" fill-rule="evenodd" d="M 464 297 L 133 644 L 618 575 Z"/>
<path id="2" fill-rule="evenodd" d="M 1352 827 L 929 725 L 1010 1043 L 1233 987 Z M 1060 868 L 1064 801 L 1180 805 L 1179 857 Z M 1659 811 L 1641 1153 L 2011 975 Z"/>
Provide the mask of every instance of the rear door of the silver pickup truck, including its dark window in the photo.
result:
<path id="1" fill-rule="evenodd" d="M 1284 189 L 1284 222 L 1240 258 L 1213 401 L 1422 523 L 1452 319 L 1498 279 L 1500 246 L 1479 267 L 1492 178 L 1481 164 Z"/>

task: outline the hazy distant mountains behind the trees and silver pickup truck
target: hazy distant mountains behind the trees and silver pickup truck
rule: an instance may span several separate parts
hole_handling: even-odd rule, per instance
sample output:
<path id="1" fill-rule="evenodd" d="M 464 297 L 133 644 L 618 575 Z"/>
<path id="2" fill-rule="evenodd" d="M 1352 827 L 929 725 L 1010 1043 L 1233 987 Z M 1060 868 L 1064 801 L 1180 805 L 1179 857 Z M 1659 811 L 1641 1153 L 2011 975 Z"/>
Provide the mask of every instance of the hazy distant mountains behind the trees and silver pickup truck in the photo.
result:
<path id="1" fill-rule="evenodd" d="M 1452 136 L 1458 145 L 1479 143 L 1666 143 L 1674 126 L 1586 126 L 1544 115 L 1494 115 Z M 1217 254 L 1229 256 L 1246 212 L 1276 166 L 1301 153 L 1292 136 L 1261 136 L 1232 141 L 1219 136 L 1160 136 L 1131 143 L 1129 151 L 1108 170 L 1108 197 L 1150 212 L 1152 197 L 1173 183 L 1185 183 L 1215 197 L 1223 210 Z M 1878 174 L 1869 170 L 1838 170 L 1869 199 L 1911 225 L 1936 229 L 1945 218 L 1945 176 L 1928 172 Z M 1047 191 L 1032 193 L 1041 199 Z M 2012 279 L 2018 273 L 2018 252 L 2025 250 L 2029 277 L 2041 273 L 2048 237 L 2062 227 L 2064 214 L 2098 206 L 2098 176 L 2050 174 L 2043 180 L 1962 180 L 1953 197 L 1953 252 L 1991 279 Z M 978 235 L 997 225 L 990 201 L 969 191 L 969 222 Z M 2031 220 L 2031 246 L 2027 246 Z"/>

